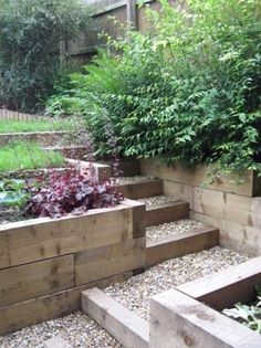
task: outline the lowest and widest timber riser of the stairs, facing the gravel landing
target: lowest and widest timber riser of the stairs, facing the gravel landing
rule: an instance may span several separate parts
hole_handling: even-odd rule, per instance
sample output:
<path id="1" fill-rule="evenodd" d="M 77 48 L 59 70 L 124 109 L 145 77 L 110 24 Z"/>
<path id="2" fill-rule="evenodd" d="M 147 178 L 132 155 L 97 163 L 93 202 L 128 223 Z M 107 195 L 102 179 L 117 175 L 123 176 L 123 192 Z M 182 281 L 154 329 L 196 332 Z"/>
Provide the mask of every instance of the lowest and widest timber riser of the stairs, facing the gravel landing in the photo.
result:
<path id="1" fill-rule="evenodd" d="M 153 266 L 170 259 L 198 253 L 217 245 L 219 245 L 219 230 L 212 226 L 147 240 L 146 265 Z"/>

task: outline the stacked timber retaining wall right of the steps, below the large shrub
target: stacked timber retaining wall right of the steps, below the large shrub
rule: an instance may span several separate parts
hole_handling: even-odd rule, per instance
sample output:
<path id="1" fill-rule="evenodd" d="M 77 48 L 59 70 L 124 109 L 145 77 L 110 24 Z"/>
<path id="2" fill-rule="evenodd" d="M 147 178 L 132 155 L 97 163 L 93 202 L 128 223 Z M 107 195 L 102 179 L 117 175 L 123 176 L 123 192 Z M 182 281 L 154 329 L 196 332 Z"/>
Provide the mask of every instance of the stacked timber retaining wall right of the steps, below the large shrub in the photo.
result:
<path id="1" fill-rule="evenodd" d="M 177 194 L 190 204 L 191 218 L 220 229 L 223 246 L 261 254 L 261 190 L 260 178 L 249 171 L 237 184 L 233 177 L 220 177 L 202 188 L 207 168 L 167 167 L 160 160 L 142 160 L 142 173 L 164 180 L 164 193 Z M 260 197 L 259 197 L 260 196 Z"/>

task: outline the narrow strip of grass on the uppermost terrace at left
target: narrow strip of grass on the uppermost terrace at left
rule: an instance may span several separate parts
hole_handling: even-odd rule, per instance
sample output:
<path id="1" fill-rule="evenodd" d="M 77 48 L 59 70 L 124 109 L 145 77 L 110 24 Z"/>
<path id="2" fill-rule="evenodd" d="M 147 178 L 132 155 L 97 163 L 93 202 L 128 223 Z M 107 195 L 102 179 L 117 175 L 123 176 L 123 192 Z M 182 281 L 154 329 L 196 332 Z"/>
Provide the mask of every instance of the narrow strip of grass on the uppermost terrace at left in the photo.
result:
<path id="1" fill-rule="evenodd" d="M 0 119 L 0 133 L 30 133 L 48 130 L 71 130 L 73 123 L 71 120 L 9 120 Z"/>

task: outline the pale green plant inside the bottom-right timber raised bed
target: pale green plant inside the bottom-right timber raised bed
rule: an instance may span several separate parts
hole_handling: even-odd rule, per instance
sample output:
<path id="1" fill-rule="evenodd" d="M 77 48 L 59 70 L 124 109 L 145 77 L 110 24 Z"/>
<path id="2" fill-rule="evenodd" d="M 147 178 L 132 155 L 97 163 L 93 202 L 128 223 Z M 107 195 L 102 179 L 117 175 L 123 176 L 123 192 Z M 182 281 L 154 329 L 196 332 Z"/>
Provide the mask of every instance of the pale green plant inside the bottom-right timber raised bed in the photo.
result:
<path id="1" fill-rule="evenodd" d="M 261 288 L 257 288 L 257 302 L 250 306 L 238 303 L 231 309 L 223 309 L 223 314 L 242 323 L 252 330 L 261 334 Z"/>

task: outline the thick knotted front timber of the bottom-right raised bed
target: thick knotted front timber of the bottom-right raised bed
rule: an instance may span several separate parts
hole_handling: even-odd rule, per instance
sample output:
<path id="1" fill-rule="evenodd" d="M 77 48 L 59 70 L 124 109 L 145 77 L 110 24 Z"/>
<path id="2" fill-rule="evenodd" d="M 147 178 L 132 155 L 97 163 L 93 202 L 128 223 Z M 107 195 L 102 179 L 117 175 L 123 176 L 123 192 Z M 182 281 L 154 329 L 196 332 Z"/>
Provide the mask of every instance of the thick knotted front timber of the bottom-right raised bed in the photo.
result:
<path id="1" fill-rule="evenodd" d="M 150 300 L 149 348 L 260 348 L 261 336 L 175 289 Z"/>

